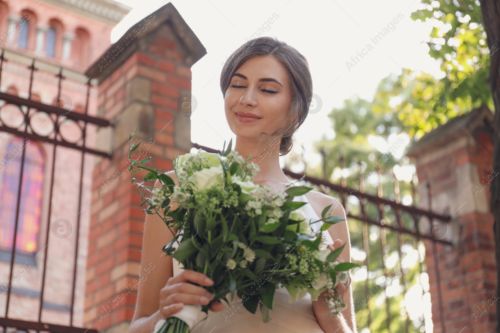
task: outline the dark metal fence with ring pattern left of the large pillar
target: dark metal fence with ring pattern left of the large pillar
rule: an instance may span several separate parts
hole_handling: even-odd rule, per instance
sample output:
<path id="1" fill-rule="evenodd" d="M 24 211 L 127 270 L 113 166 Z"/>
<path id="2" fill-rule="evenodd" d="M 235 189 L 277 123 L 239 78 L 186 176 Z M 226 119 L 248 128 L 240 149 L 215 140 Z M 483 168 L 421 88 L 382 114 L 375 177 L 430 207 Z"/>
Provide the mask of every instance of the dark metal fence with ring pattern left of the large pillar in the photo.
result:
<path id="1" fill-rule="evenodd" d="M 9 51 L 10 52 L 10 51 Z M 11 52 L 12 53 L 12 52 Z M 15 55 L 15 52 L 13 52 Z M 4 57 L 4 50 L 2 50 L 0 54 L 0 82 L 2 78 L 2 72 L 4 70 L 4 63 L 5 61 L 9 61 L 7 58 Z M 39 60 L 36 60 L 39 61 Z M 14 61 L 15 62 L 15 61 Z M 40 61 L 43 62 L 43 61 Z M 2 93 L 0 92 L 0 100 L 3 100 L 6 104 L 13 104 L 16 105 L 20 108 L 21 111 L 23 111 L 24 114 L 24 121 L 22 124 L 17 126 L 16 128 L 11 128 L 8 127 L 4 124 L 0 125 L 0 131 L 11 133 L 14 136 L 17 137 L 23 137 L 24 139 L 29 138 L 32 139 L 33 141 L 41 141 L 41 142 L 48 142 L 52 144 L 53 147 L 53 154 L 52 154 L 52 159 L 51 159 L 51 175 L 50 175 L 50 184 L 49 184 L 49 208 L 48 208 L 48 217 L 47 217 L 47 225 L 46 225 L 46 230 L 45 230 L 45 246 L 41 249 L 41 251 L 45 250 L 45 256 L 43 259 L 43 269 L 42 269 L 42 282 L 41 282 L 41 291 L 40 291 L 40 297 L 39 297 L 39 309 L 38 309 L 38 322 L 30 322 L 30 321 L 22 321 L 22 320 L 14 320 L 14 319 L 9 319 L 7 318 L 8 316 L 8 309 L 10 305 L 10 292 L 11 292 L 11 285 L 12 285 L 12 272 L 13 272 L 13 265 L 14 265 L 14 256 L 15 256 L 15 249 L 16 249 L 16 238 L 17 238 L 17 228 L 19 224 L 19 217 L 20 217 L 20 204 L 21 204 L 21 191 L 22 191 L 22 179 L 24 175 L 24 165 L 25 165 L 25 149 L 22 149 L 21 151 L 21 162 L 20 162 L 20 174 L 19 174 L 19 184 L 18 184 L 18 193 L 17 193 L 17 207 L 16 207 L 16 214 L 15 214 L 15 226 L 14 226 L 14 239 L 13 239 L 13 244 L 12 244 L 12 252 L 11 252 L 11 258 L 10 258 L 10 278 L 9 278 L 9 285 L 7 288 L 7 299 L 6 299 L 6 312 L 5 312 L 5 318 L 0 318 L 0 328 L 3 328 L 4 332 L 7 327 L 12 327 L 15 328 L 16 330 L 35 330 L 37 332 L 44 331 L 44 332 L 58 332 L 58 333 L 97 333 L 96 330 L 90 330 L 90 329 L 83 329 L 83 328 L 77 328 L 73 327 L 73 318 L 74 318 L 74 301 L 75 301 L 75 284 L 76 284 L 76 268 L 77 268 L 77 258 L 78 258 L 78 238 L 79 238 L 79 226 L 80 226 L 80 214 L 78 212 L 77 215 L 77 226 L 76 226 L 76 242 L 75 242 L 75 253 L 74 253 L 74 268 L 73 268 L 73 280 L 72 280 L 72 294 L 71 294 L 71 310 L 70 310 L 70 323 L 69 327 L 67 326 L 61 326 L 61 325 L 52 325 L 52 324 L 45 324 L 41 323 L 41 313 L 43 310 L 43 296 L 44 296 L 44 290 L 45 290 L 45 281 L 46 281 L 46 266 L 47 266 L 47 258 L 48 258 L 48 238 L 49 238 L 49 229 L 50 229 L 50 215 L 51 215 L 51 210 L 52 210 L 52 196 L 53 196 L 53 189 L 54 189 L 54 172 L 55 172 L 55 160 L 56 160 L 56 154 L 57 154 L 57 146 L 65 146 L 68 148 L 76 149 L 81 152 L 81 164 L 80 164 L 80 179 L 79 179 L 79 190 L 78 190 L 78 210 L 81 209 L 81 199 L 82 199 L 82 190 L 83 190 L 83 171 L 84 171 L 84 156 L 85 153 L 91 153 L 93 155 L 97 156 L 103 156 L 106 158 L 111 157 L 110 154 L 102 151 L 97 151 L 91 148 L 88 148 L 85 146 L 86 144 L 86 125 L 87 124 L 93 124 L 96 126 L 100 127 L 107 127 L 110 126 L 110 123 L 108 120 L 101 119 L 101 118 L 96 118 L 96 117 L 91 117 L 88 115 L 88 101 L 89 101 L 89 95 L 90 95 L 90 89 L 91 89 L 91 84 L 87 80 L 85 80 L 84 84 L 87 83 L 87 92 L 86 92 L 86 99 L 85 99 L 85 113 L 77 113 L 77 112 L 66 112 L 61 113 L 61 109 L 58 107 L 54 107 L 52 105 L 46 105 L 42 104 L 37 101 L 30 100 L 31 98 L 31 90 L 32 90 L 32 83 L 33 83 L 33 71 L 36 70 L 35 66 L 35 59 L 31 59 L 31 65 L 29 67 L 26 67 L 30 70 L 30 76 L 29 76 L 29 89 L 28 89 L 28 98 L 24 99 L 19 96 L 14 96 L 10 95 L 7 93 Z M 57 68 L 57 67 L 56 67 Z M 55 75 L 58 77 L 58 82 L 57 82 L 57 101 L 59 101 L 59 98 L 61 96 L 61 87 L 62 87 L 62 80 L 65 79 L 63 75 L 63 70 L 64 71 L 71 71 L 67 70 L 63 67 L 58 67 L 58 73 Z M 74 74 L 74 72 L 73 72 Z M 88 81 L 88 82 L 87 82 Z M 4 104 L 5 105 L 5 104 Z M 52 138 L 47 136 L 40 136 L 35 133 L 33 128 L 31 128 L 29 120 L 32 115 L 30 113 L 31 109 L 35 109 L 38 112 L 45 112 L 46 114 L 49 115 L 50 120 L 54 121 L 52 118 L 53 115 L 55 115 L 55 121 L 54 121 L 54 129 L 53 129 L 53 136 Z M 81 127 L 81 145 L 75 144 L 75 143 L 70 143 L 65 141 L 64 137 L 62 137 L 59 133 L 59 120 L 60 119 L 69 119 L 75 121 L 77 124 Z M 28 131 L 30 129 L 30 131 Z M 59 136 L 59 139 L 58 139 Z M 41 252 L 40 251 L 40 252 Z"/>

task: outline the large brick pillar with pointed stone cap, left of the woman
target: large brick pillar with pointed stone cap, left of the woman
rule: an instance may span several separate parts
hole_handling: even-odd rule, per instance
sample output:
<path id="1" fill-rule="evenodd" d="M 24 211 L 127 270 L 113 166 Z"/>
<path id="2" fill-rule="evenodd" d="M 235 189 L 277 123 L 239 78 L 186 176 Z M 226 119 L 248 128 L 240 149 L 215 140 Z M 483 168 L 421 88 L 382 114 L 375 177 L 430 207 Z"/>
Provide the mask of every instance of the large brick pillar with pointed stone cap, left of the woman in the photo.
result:
<path id="1" fill-rule="evenodd" d="M 130 184 L 128 135 L 137 127 L 134 138 L 142 144 L 135 152 L 152 156 L 151 167 L 162 171 L 172 170 L 171 159 L 189 152 L 190 114 L 179 111 L 178 99 L 190 94 L 190 66 L 205 53 L 168 3 L 132 26 L 86 73 L 98 79 L 98 112 L 114 125 L 97 135 L 113 155 L 97 162 L 92 177 L 87 327 L 128 331 L 145 218 L 140 194 Z"/>

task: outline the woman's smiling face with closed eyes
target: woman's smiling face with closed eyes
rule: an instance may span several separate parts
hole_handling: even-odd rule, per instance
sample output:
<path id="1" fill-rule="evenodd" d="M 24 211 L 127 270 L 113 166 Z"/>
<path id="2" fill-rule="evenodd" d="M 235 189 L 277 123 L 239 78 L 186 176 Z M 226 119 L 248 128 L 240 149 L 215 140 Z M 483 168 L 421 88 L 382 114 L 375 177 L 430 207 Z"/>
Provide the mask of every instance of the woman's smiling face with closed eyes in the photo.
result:
<path id="1" fill-rule="evenodd" d="M 259 55 L 231 77 L 224 95 L 225 117 L 237 137 L 258 142 L 260 132 L 273 133 L 286 124 L 290 103 L 286 68 L 273 56 Z"/>

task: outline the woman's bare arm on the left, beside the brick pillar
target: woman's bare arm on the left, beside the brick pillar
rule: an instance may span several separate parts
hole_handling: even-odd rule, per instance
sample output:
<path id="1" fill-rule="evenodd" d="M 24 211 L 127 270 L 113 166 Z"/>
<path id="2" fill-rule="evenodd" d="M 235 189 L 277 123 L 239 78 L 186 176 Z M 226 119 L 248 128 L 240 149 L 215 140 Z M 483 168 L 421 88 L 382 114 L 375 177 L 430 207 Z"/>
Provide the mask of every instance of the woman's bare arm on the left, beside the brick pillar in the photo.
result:
<path id="1" fill-rule="evenodd" d="M 176 185 L 178 184 L 174 171 L 169 171 L 166 175 L 172 178 Z M 161 187 L 161 183 L 156 181 L 154 186 Z M 171 205 L 171 210 L 177 208 L 176 203 L 172 202 Z M 177 233 L 175 229 L 172 231 Z M 156 322 L 162 319 L 159 310 L 159 292 L 167 280 L 173 276 L 173 263 L 172 257 L 165 256 L 161 248 L 172 239 L 172 232 L 159 217 L 146 214 L 140 272 L 143 272 L 148 265 L 154 266 L 145 275 L 145 279 L 139 279 L 135 312 L 129 333 L 151 333 Z"/>

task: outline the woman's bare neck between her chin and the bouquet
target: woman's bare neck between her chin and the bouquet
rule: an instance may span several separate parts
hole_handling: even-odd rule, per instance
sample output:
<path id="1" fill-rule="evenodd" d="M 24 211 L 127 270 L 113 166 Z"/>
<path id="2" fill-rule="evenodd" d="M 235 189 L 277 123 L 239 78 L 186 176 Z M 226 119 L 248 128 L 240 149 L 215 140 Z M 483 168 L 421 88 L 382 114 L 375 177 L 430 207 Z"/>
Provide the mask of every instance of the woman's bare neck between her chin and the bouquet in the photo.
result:
<path id="1" fill-rule="evenodd" d="M 251 157 L 248 162 L 254 162 L 260 167 L 260 171 L 253 177 L 253 182 L 255 184 L 265 183 L 266 181 L 290 182 L 279 166 L 280 143 L 281 138 L 278 137 L 274 137 L 273 139 L 269 138 L 267 141 L 260 143 L 260 145 L 258 141 L 246 141 L 236 137 L 234 150 L 243 158 L 250 155 Z"/>

